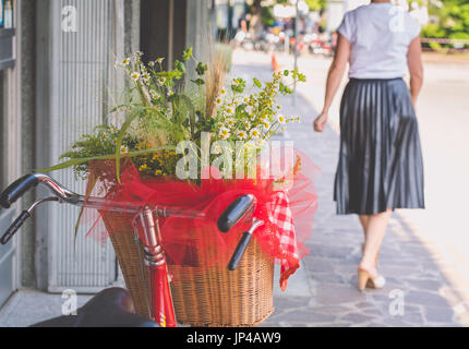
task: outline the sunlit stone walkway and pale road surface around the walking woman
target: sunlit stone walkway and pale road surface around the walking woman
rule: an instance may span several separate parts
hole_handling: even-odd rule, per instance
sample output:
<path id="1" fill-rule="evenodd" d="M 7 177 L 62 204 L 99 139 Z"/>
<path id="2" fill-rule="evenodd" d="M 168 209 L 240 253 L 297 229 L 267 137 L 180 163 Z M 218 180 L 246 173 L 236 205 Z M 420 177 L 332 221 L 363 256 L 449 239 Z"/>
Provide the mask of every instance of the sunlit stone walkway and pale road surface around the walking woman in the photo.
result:
<path id="1" fill-rule="evenodd" d="M 280 69 L 292 68 L 292 57 L 276 56 Z M 428 58 L 425 57 L 425 60 Z M 314 218 L 311 253 L 291 277 L 286 293 L 276 291 L 276 312 L 266 326 L 458 326 L 469 324 L 469 246 L 464 203 L 469 160 L 469 65 L 435 59 L 425 63 L 425 83 L 418 105 L 425 166 L 426 209 L 396 209 L 385 237 L 380 270 L 383 290 L 359 292 L 357 266 L 362 231 L 356 215 L 335 215 L 333 182 L 338 156 L 338 106 L 332 109 L 324 133 L 312 131 L 324 98 L 330 59 L 300 57 L 308 83 L 298 86 L 284 112 L 300 115 L 284 139 L 293 140 L 322 170 L 316 179 L 320 208 Z M 272 73 L 272 56 L 238 50 L 233 75 L 249 79 Z M 344 80 L 346 83 L 346 79 Z M 404 313 L 393 311 L 399 296 Z"/>

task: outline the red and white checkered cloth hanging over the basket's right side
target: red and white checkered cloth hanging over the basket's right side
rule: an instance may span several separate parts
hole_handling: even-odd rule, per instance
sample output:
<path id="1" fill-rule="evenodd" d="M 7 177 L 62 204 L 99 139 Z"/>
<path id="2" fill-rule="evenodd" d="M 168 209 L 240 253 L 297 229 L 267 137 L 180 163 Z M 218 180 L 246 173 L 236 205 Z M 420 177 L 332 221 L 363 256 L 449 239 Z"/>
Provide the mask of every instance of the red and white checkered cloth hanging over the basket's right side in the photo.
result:
<path id="1" fill-rule="evenodd" d="M 294 231 L 293 215 L 290 208 L 290 202 L 286 192 L 277 192 L 269 207 L 267 208 L 270 224 L 276 229 L 276 241 L 278 244 L 277 257 L 280 260 L 280 288 L 287 289 L 287 282 L 300 267 L 300 254 L 297 244 L 297 233 Z"/>

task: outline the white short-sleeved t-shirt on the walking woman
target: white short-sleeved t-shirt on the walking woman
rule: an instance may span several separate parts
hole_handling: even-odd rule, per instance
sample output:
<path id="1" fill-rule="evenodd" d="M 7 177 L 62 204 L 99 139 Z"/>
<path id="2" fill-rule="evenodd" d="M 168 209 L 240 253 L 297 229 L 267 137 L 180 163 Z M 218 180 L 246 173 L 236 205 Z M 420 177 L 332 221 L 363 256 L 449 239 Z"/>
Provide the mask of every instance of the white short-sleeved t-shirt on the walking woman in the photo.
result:
<path id="1" fill-rule="evenodd" d="M 349 77 L 393 79 L 406 75 L 420 24 L 389 2 L 372 2 L 347 12 L 337 31 L 351 44 Z"/>

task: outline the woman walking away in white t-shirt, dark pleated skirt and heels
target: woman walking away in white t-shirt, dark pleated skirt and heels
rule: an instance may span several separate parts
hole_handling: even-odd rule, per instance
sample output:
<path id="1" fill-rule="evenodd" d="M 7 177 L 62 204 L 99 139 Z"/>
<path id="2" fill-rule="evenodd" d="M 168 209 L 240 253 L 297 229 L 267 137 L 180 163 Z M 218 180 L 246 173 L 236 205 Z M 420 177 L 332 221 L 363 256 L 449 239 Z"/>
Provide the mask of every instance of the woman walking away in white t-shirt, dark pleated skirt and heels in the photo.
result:
<path id="1" fill-rule="evenodd" d="M 337 214 L 357 214 L 364 231 L 359 289 L 382 288 L 377 255 L 394 208 L 424 208 L 423 161 L 414 105 L 422 86 L 420 26 L 386 0 L 347 12 L 330 65 L 322 132 L 347 62 L 340 103 Z M 410 73 L 410 93 L 402 76 Z"/>

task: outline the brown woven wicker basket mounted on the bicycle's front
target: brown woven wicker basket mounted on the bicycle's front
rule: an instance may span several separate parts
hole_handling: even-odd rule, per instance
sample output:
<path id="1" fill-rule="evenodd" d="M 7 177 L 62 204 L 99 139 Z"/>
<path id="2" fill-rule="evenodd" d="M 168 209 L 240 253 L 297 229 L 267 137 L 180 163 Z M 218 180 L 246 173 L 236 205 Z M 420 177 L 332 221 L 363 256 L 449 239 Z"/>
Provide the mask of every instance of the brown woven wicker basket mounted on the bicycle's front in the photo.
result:
<path id="1" fill-rule="evenodd" d="M 111 232 L 135 311 L 149 318 L 148 273 L 142 245 L 132 232 L 131 219 L 117 213 L 107 213 L 103 218 Z M 169 265 L 169 273 L 179 280 L 171 282 L 171 293 L 176 317 L 181 324 L 255 326 L 274 312 L 274 263 L 264 255 L 255 239 L 234 272 L 228 270 L 226 264 L 217 264 L 209 268 Z"/>

